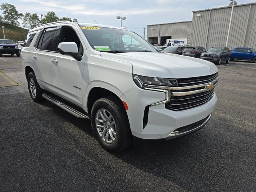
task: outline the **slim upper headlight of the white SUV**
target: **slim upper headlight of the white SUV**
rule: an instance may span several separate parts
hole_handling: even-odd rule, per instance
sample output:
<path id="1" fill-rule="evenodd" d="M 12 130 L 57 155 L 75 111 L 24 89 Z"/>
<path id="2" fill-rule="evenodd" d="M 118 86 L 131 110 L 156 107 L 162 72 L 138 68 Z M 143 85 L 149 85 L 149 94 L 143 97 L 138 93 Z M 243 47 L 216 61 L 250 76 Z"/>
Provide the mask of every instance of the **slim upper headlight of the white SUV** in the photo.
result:
<path id="1" fill-rule="evenodd" d="M 144 89 L 147 85 L 156 85 L 156 86 L 178 86 L 176 79 L 169 78 L 158 78 L 158 77 L 146 77 L 133 74 L 133 80 L 135 84 Z"/>

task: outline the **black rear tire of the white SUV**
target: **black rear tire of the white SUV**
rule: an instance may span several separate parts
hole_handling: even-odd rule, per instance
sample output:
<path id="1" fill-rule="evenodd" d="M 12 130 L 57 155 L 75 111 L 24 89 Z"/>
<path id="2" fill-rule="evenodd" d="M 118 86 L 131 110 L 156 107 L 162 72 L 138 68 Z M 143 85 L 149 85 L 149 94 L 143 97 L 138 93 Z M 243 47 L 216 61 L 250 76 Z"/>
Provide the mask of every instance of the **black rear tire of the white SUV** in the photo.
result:
<path id="1" fill-rule="evenodd" d="M 33 81 L 34 81 L 35 90 L 36 90 L 35 95 L 32 94 L 33 91 L 30 88 L 30 85 L 32 86 L 32 84 L 30 84 L 30 79 L 33 79 Z M 42 97 L 43 90 L 42 90 L 42 88 L 40 88 L 40 86 L 36 80 L 36 76 L 35 76 L 34 72 L 30 72 L 28 74 L 28 91 L 29 91 L 29 94 L 34 102 L 41 102 L 44 100 L 44 98 Z"/>

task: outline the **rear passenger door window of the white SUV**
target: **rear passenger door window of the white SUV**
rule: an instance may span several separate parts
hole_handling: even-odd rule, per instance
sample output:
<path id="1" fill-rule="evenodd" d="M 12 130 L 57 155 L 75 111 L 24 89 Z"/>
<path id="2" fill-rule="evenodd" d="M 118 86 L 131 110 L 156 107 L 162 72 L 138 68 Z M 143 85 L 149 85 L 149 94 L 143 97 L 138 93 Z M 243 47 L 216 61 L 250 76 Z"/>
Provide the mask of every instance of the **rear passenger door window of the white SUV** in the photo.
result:
<path id="1" fill-rule="evenodd" d="M 51 51 L 52 50 L 52 40 L 53 40 L 56 30 L 57 30 L 57 27 L 45 29 L 40 40 L 39 40 L 37 48 L 40 50 Z"/>

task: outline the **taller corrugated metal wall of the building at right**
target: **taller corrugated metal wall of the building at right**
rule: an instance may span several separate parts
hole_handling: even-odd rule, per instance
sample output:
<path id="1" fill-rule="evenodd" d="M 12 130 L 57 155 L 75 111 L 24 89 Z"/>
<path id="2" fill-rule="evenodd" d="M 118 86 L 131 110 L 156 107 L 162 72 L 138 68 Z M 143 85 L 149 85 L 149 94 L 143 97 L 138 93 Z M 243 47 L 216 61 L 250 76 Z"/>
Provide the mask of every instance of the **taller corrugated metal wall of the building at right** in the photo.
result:
<path id="1" fill-rule="evenodd" d="M 191 44 L 206 49 L 226 46 L 232 7 L 194 12 Z M 201 16 L 196 16 L 201 14 Z M 209 19 L 210 18 L 210 19 Z M 228 47 L 256 47 L 256 4 L 235 6 L 230 28 Z"/>

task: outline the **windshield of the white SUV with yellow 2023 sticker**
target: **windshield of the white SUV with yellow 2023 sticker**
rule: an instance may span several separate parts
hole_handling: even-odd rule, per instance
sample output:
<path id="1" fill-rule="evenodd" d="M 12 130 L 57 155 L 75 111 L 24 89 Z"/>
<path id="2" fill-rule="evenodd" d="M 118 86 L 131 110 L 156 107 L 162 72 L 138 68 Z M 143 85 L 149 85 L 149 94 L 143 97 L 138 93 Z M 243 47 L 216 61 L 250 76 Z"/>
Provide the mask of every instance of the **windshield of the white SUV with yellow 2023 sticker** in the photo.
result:
<path id="1" fill-rule="evenodd" d="M 128 30 L 95 26 L 81 26 L 81 29 L 96 51 L 157 52 L 146 40 Z"/>

